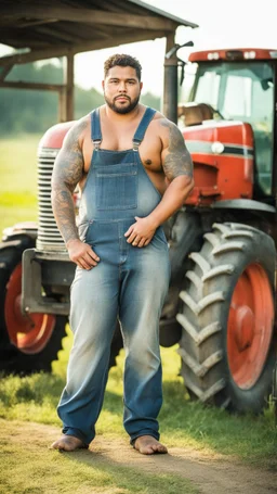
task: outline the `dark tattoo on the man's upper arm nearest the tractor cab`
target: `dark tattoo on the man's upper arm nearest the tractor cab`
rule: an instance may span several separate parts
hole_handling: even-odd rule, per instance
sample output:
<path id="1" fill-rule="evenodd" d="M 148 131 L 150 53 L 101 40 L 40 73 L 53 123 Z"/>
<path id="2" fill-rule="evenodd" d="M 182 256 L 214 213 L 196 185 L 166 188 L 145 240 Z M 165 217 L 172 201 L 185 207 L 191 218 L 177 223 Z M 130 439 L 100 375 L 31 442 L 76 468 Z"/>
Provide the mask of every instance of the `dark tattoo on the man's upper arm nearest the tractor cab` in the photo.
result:
<path id="1" fill-rule="evenodd" d="M 171 181 L 180 175 L 193 177 L 193 161 L 186 148 L 181 130 L 168 119 L 162 119 L 161 125 L 169 129 L 169 147 L 163 162 L 167 178 Z"/>

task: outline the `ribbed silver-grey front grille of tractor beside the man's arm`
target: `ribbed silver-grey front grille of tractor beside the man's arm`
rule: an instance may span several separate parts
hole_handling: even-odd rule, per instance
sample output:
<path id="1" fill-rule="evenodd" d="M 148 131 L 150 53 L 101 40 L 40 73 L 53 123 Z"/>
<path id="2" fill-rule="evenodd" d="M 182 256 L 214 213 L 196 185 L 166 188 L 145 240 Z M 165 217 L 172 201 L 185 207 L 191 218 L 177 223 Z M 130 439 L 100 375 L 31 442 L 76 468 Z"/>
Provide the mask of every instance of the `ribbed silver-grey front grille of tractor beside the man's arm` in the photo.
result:
<path id="1" fill-rule="evenodd" d="M 51 177 L 57 153 L 57 149 L 49 148 L 41 148 L 38 153 L 39 227 L 37 249 L 39 251 L 66 251 L 51 206 Z"/>

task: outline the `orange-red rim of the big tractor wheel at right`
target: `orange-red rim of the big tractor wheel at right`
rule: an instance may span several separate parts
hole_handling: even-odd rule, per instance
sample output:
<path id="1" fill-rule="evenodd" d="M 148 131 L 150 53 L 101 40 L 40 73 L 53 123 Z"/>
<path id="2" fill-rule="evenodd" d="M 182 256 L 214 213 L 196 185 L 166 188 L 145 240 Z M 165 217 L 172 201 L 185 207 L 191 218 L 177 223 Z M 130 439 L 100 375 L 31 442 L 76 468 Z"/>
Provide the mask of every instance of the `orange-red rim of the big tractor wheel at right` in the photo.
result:
<path id="1" fill-rule="evenodd" d="M 230 301 L 227 324 L 227 358 L 236 384 L 248 390 L 259 380 L 271 346 L 274 302 L 263 267 L 249 265 L 241 274 Z"/>

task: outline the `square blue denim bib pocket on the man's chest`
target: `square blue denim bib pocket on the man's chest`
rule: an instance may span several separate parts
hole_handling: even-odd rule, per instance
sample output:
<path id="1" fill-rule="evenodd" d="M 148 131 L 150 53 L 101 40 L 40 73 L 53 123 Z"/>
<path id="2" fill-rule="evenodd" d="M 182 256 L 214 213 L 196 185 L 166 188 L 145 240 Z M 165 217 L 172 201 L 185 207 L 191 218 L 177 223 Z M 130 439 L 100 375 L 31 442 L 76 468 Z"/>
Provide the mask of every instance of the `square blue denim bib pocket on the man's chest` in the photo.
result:
<path id="1" fill-rule="evenodd" d="M 124 163 L 96 168 L 97 210 L 137 207 L 137 165 Z"/>

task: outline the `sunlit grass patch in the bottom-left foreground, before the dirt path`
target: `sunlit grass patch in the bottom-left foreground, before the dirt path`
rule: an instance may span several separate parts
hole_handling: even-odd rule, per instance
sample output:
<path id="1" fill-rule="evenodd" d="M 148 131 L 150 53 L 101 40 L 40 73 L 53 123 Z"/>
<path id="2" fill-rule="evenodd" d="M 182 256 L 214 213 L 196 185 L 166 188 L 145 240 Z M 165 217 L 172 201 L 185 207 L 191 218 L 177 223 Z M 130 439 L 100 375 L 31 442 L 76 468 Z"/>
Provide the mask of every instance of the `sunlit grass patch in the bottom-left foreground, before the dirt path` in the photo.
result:
<path id="1" fill-rule="evenodd" d="M 12 422 L 4 430 L 1 427 L 0 494 L 199 492 L 183 477 L 162 472 L 138 473 L 135 465 L 120 466 L 115 459 L 106 458 L 105 454 L 78 452 L 74 456 L 57 455 L 47 448 L 47 438 L 40 444 L 32 441 L 31 447 L 21 439 L 21 433 L 16 432 Z"/>

